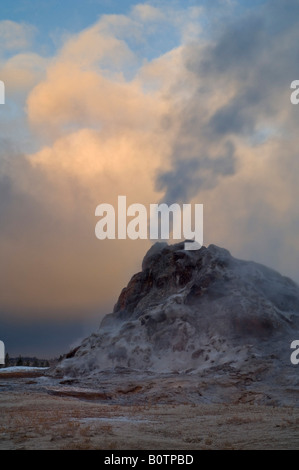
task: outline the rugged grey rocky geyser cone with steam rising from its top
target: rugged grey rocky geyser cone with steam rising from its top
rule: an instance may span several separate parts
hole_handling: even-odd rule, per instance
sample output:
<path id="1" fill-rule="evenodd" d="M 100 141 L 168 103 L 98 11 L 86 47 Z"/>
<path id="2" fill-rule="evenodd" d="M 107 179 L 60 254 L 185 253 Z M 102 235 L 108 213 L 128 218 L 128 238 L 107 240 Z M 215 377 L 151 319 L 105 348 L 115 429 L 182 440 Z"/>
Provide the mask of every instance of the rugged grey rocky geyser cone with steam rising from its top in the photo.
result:
<path id="1" fill-rule="evenodd" d="M 275 376 L 282 366 L 292 368 L 290 343 L 299 339 L 298 326 L 299 287 L 292 280 L 215 245 L 185 251 L 184 243 L 156 243 L 113 313 L 55 374 L 230 367 Z"/>

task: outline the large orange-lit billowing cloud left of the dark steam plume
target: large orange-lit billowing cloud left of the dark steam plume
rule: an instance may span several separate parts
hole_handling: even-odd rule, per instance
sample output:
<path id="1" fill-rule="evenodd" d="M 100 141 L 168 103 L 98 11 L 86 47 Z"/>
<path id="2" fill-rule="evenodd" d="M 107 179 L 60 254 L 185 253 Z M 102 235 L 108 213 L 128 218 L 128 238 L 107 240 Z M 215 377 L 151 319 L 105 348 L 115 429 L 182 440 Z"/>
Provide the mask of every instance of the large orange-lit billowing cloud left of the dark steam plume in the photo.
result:
<path id="1" fill-rule="evenodd" d="M 1 304 L 12 315 L 112 308 L 149 246 L 101 243 L 94 233 L 98 204 L 116 206 L 122 194 L 128 204 L 156 200 L 154 177 L 169 153 L 159 125 L 168 103 L 119 74 L 134 54 L 107 33 L 116 20 L 126 23 L 102 19 L 45 64 L 27 99 L 39 150 L 24 155 L 9 143 L 3 151 Z"/>

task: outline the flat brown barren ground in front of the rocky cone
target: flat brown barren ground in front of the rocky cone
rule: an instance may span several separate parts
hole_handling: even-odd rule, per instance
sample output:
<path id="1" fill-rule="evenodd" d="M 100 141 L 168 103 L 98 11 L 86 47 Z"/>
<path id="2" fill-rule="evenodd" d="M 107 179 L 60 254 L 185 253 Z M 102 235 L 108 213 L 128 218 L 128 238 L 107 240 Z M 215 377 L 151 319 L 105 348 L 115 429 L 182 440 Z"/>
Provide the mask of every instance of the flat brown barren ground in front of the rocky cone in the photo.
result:
<path id="1" fill-rule="evenodd" d="M 291 406 L 103 403 L 25 380 L 7 390 L 0 379 L 0 449 L 299 449 Z"/>

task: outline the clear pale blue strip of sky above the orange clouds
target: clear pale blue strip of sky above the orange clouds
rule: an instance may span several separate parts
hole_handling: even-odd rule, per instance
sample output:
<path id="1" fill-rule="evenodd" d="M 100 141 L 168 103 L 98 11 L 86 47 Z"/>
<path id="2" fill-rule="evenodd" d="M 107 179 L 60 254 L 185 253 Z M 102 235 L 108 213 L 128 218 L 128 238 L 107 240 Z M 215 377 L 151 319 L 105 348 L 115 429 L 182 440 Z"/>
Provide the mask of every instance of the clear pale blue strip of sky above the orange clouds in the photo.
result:
<path id="1" fill-rule="evenodd" d="M 27 23 L 36 27 L 35 48 L 38 52 L 51 55 L 57 47 L 59 37 L 67 33 L 77 33 L 95 23 L 101 15 L 128 14 L 130 10 L 142 1 L 136 0 L 1 0 L 0 21 L 11 20 Z M 193 6 L 204 6 L 217 15 L 220 9 L 229 9 L 230 5 L 235 14 L 242 14 L 244 10 L 254 10 L 265 0 L 153 0 L 144 2 L 149 5 L 161 7 L 171 5 L 174 8 L 187 9 Z M 171 40 L 173 46 L 176 38 L 171 39 L 170 30 L 165 32 L 163 41 L 160 38 L 161 49 L 168 50 Z M 167 44 L 168 43 L 168 44 Z M 163 52 L 163 51 L 162 51 Z"/>

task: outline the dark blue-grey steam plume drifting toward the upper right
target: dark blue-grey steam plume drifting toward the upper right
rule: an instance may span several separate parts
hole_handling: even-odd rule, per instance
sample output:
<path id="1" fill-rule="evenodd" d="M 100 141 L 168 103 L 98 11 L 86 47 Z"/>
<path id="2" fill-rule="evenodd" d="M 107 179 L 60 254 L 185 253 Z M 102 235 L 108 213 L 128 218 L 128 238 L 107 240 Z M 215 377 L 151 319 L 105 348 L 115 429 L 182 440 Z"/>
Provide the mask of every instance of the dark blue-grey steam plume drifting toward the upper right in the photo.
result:
<path id="1" fill-rule="evenodd" d="M 176 110 L 172 169 L 157 177 L 165 201 L 187 202 L 234 174 L 238 149 L 221 157 L 228 140 L 242 139 L 250 150 L 248 143 L 254 145 L 265 129 L 265 135 L 269 127 L 287 129 L 281 111 L 288 106 L 291 81 L 299 76 L 298 12 L 298 1 L 269 1 L 218 21 L 204 47 L 185 48 L 186 74 L 193 85 Z"/>

